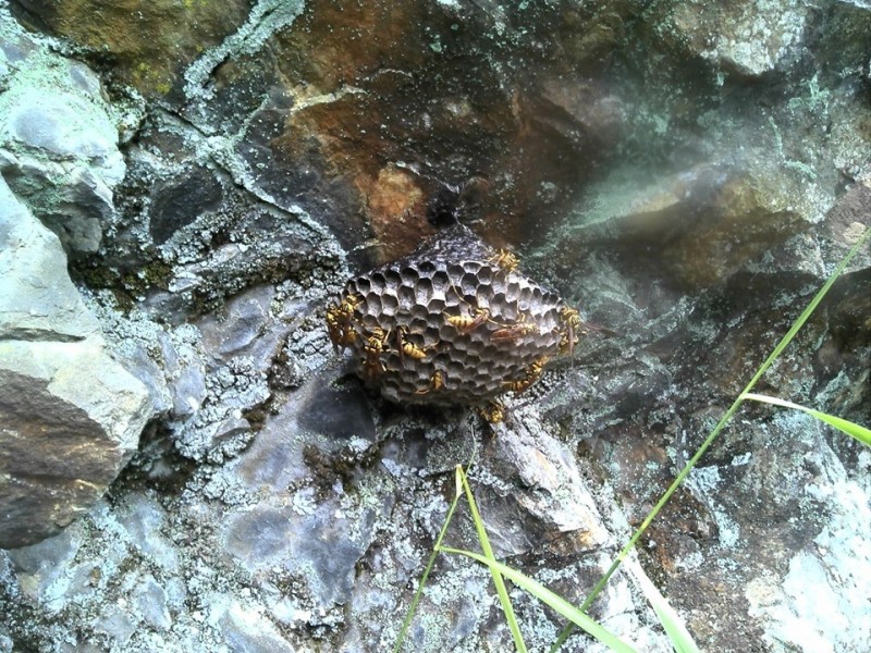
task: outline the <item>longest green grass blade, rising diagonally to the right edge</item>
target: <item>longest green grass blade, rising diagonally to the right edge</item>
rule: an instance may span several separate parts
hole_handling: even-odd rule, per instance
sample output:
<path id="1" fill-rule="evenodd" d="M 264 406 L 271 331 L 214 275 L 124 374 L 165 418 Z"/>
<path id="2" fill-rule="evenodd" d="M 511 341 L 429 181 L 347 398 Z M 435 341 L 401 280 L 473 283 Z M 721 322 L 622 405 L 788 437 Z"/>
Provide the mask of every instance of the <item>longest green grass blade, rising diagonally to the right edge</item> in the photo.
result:
<path id="1" fill-rule="evenodd" d="M 720 435 L 720 431 L 722 431 L 723 428 L 726 426 L 726 423 L 728 423 L 728 421 L 732 419 L 732 416 L 735 415 L 735 412 L 737 412 L 738 408 L 740 407 L 740 405 L 741 405 L 741 403 L 744 401 L 741 398 L 741 396 L 746 395 L 747 393 L 749 393 L 753 389 L 753 386 L 757 384 L 759 379 L 762 378 L 762 374 L 764 374 L 768 371 L 768 369 L 780 357 L 780 355 L 783 353 L 783 350 L 789 345 L 790 342 L 793 342 L 793 338 L 796 336 L 796 333 L 798 333 L 799 329 L 801 329 L 801 326 L 805 325 L 805 322 L 808 321 L 808 318 L 810 318 L 810 316 L 817 309 L 817 306 L 820 304 L 820 301 L 822 301 L 823 297 L 825 297 L 825 295 L 829 293 L 830 288 L 834 285 L 835 280 L 838 276 L 841 276 L 841 273 L 844 272 L 844 269 L 849 264 L 849 262 L 854 259 L 854 257 L 859 252 L 859 249 L 861 249 L 862 245 L 864 245 L 864 243 L 868 239 L 869 235 L 871 235 L 871 229 L 866 229 L 864 233 L 861 235 L 861 237 L 856 242 L 856 244 L 850 248 L 850 250 L 847 252 L 847 255 L 842 259 L 842 261 L 838 263 L 837 268 L 835 268 L 834 272 L 832 272 L 831 276 L 826 280 L 825 284 L 823 284 L 823 287 L 820 288 L 820 291 L 817 293 L 817 295 L 814 295 L 813 299 L 811 299 L 810 304 L 808 304 L 808 307 L 802 311 L 802 313 L 798 317 L 798 319 L 793 323 L 793 325 L 789 328 L 789 331 L 786 332 L 786 335 L 784 335 L 783 338 L 781 338 L 781 342 L 777 343 L 777 345 L 774 347 L 774 349 L 769 355 L 769 357 L 765 359 L 765 361 L 759 367 L 759 369 L 757 370 L 756 374 L 753 374 L 753 378 L 750 379 L 750 382 L 744 389 L 741 394 L 738 395 L 738 397 L 735 399 L 735 402 L 732 404 L 732 406 L 729 406 L 728 410 L 726 410 L 726 412 L 723 415 L 723 417 L 720 418 L 720 421 L 716 422 L 716 426 L 708 434 L 708 438 L 704 439 L 704 442 L 702 442 L 702 444 L 699 447 L 699 449 L 689 459 L 689 461 L 686 464 L 684 469 L 680 470 L 680 472 L 675 478 L 674 482 L 668 486 L 668 489 L 662 495 L 662 498 L 660 498 L 660 501 L 657 503 L 657 505 L 653 506 L 653 509 L 650 512 L 650 514 L 641 522 L 641 526 L 639 526 L 638 529 L 635 531 L 635 533 L 633 533 L 633 537 L 626 543 L 626 546 L 624 546 L 623 550 L 617 554 L 617 557 L 614 558 L 614 562 L 608 568 L 608 571 L 605 571 L 604 576 L 602 576 L 602 578 L 599 580 L 599 582 L 596 583 L 596 586 L 593 587 L 593 589 L 590 592 L 590 594 L 587 596 L 587 599 L 584 601 L 584 603 L 581 603 L 580 609 L 582 612 L 586 611 L 590 605 L 592 605 L 592 602 L 596 600 L 596 596 L 599 595 L 599 592 L 601 592 L 602 588 L 605 587 L 605 583 L 608 583 L 608 581 L 611 578 L 611 576 L 613 576 L 613 574 L 617 570 L 617 568 L 621 566 L 621 564 L 626 558 L 626 556 L 629 554 L 629 552 L 635 547 L 636 542 L 638 542 L 638 540 L 641 538 L 641 535 L 648 529 L 648 527 L 653 521 L 653 519 L 657 517 L 657 515 L 659 515 L 660 510 L 662 510 L 663 506 L 665 506 L 665 504 L 672 497 L 672 494 L 675 493 L 677 488 L 679 488 L 680 484 L 684 482 L 684 479 L 686 479 L 687 476 L 689 475 L 689 472 L 692 470 L 692 468 L 696 467 L 696 464 L 699 461 L 699 458 L 701 458 L 702 455 L 704 454 L 704 452 L 707 452 L 708 448 L 711 446 L 711 444 L 713 444 L 714 440 L 716 440 L 716 436 Z M 560 646 L 562 646 L 563 643 L 565 643 L 565 640 L 568 639 L 568 636 L 572 634 L 573 628 L 574 628 L 574 625 L 573 624 L 568 624 L 568 626 L 566 626 L 563 629 L 563 631 L 560 633 L 560 637 L 554 642 L 553 646 L 551 646 L 551 653 L 556 653 L 556 651 L 560 650 Z"/>

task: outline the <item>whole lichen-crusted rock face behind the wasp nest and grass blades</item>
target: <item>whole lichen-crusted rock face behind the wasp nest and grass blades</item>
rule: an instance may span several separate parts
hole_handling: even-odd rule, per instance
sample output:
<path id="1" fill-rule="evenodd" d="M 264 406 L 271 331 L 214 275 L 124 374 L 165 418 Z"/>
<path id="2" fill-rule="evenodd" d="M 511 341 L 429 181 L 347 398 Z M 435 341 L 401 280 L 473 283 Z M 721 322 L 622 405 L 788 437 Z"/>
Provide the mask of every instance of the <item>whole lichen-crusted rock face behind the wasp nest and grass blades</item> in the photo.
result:
<path id="1" fill-rule="evenodd" d="M 389 649 L 473 459 L 498 555 L 582 600 L 871 222 L 871 8 L 217 8 L 0 3 L 0 219 L 28 243 L 0 250 L 0 409 L 94 453 L 4 449 L 90 485 L 62 517 L 23 495 L 54 522 L 10 537 L 70 526 L 0 552 L 0 650 Z M 367 394 L 323 321 L 436 231 L 445 185 L 590 322 L 494 428 Z M 758 390 L 871 423 L 870 271 L 866 248 Z M 702 650 L 863 651 L 869 471 L 745 407 L 592 615 L 668 650 L 646 575 Z M 447 539 L 476 547 L 464 509 Z M 562 625 L 512 596 L 547 650 Z M 511 645 L 489 572 L 440 558 L 406 650 Z"/>

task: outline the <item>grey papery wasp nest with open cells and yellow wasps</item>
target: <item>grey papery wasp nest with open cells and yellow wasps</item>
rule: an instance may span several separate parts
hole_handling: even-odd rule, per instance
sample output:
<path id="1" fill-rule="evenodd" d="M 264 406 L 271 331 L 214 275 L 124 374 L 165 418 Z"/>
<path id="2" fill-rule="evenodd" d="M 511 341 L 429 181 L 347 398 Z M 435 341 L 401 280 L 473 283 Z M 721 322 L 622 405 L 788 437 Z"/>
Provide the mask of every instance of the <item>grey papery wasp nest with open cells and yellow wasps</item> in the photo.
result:
<path id="1" fill-rule="evenodd" d="M 572 354 L 578 312 L 517 259 L 454 225 L 410 256 L 352 279 L 327 310 L 360 378 L 400 404 L 482 405 L 523 392 Z"/>

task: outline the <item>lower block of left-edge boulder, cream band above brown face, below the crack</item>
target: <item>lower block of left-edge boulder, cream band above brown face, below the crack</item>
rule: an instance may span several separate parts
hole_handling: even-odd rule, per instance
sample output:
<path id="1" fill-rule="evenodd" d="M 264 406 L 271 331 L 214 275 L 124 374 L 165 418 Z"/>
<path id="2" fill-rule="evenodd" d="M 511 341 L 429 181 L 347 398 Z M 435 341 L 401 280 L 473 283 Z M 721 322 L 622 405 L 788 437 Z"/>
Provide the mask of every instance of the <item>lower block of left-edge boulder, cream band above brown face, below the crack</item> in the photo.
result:
<path id="1" fill-rule="evenodd" d="M 87 510 L 136 449 L 145 387 L 105 342 L 0 343 L 0 545 L 48 537 Z"/>

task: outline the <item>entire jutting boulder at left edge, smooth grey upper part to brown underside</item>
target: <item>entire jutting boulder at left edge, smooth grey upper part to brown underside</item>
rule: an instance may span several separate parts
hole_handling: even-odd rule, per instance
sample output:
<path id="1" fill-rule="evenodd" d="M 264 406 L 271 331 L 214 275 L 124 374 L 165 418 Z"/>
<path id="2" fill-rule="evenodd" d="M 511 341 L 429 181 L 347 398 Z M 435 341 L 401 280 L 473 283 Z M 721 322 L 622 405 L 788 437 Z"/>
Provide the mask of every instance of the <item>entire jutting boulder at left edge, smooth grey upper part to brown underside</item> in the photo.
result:
<path id="1" fill-rule="evenodd" d="M 57 237 L 0 180 L 0 546 L 84 514 L 126 464 L 151 405 L 110 355 Z"/>

